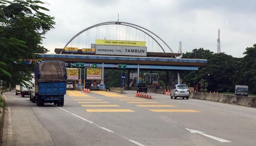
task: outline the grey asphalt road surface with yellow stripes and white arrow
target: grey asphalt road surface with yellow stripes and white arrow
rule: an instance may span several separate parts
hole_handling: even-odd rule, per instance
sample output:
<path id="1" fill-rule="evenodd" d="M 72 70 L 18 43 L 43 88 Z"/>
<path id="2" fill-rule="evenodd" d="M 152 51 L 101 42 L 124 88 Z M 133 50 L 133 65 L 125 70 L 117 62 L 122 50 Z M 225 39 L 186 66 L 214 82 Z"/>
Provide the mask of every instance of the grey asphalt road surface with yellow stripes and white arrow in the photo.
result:
<path id="1" fill-rule="evenodd" d="M 64 107 L 4 93 L 3 146 L 255 146 L 256 108 L 68 90 Z"/>

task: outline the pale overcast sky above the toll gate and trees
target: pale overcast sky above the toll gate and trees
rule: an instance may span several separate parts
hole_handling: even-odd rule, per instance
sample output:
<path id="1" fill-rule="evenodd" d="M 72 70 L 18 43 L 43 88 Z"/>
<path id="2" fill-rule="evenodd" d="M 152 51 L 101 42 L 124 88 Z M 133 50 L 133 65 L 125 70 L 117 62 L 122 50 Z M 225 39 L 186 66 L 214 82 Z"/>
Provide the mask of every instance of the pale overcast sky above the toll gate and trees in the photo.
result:
<path id="1" fill-rule="evenodd" d="M 243 57 L 245 48 L 256 43 L 255 0 L 43 1 L 50 4 L 44 6 L 50 9 L 47 14 L 54 16 L 56 22 L 55 29 L 50 30 L 43 41 L 43 46 L 50 53 L 54 53 L 55 48 L 64 47 L 69 39 L 86 27 L 116 21 L 118 14 L 119 21 L 138 24 L 153 31 L 174 52 L 178 52 L 179 41 L 182 41 L 183 53 L 200 47 L 216 53 L 218 28 L 221 29 L 221 52 L 226 54 Z M 130 40 L 135 40 L 135 30 L 130 31 Z M 118 32 L 120 40 L 127 39 L 126 27 L 120 26 Z M 96 28 L 89 33 L 90 42 L 87 43 L 94 43 Z M 106 33 L 106 26 L 99 27 L 99 39 L 104 39 Z M 79 45 L 74 40 L 72 46 L 88 47 L 86 35 L 88 34 L 81 35 Z M 109 35 L 110 39 L 116 39 L 116 26 L 110 26 Z M 140 41 L 145 38 L 148 43 L 147 37 L 140 32 Z M 138 41 L 138 34 L 136 40 Z"/>

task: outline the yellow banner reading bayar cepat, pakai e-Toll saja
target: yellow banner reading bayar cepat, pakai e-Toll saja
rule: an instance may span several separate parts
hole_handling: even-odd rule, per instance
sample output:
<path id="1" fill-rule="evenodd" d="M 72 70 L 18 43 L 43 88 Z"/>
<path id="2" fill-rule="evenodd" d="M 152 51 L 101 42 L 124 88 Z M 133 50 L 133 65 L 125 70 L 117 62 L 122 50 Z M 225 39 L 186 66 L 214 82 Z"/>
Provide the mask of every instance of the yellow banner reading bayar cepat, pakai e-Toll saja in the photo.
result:
<path id="1" fill-rule="evenodd" d="M 118 41 L 118 40 L 95 39 L 95 45 L 146 47 L 146 42 L 145 41 Z"/>

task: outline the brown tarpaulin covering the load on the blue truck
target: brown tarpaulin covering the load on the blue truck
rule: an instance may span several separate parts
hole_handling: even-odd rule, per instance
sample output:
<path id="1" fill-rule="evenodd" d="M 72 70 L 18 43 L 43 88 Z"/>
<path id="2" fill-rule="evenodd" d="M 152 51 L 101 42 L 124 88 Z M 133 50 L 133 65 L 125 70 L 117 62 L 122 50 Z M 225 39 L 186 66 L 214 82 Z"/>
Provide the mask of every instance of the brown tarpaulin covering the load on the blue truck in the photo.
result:
<path id="1" fill-rule="evenodd" d="M 38 82 L 66 81 L 66 64 L 62 61 L 43 61 L 35 66 L 35 77 Z"/>

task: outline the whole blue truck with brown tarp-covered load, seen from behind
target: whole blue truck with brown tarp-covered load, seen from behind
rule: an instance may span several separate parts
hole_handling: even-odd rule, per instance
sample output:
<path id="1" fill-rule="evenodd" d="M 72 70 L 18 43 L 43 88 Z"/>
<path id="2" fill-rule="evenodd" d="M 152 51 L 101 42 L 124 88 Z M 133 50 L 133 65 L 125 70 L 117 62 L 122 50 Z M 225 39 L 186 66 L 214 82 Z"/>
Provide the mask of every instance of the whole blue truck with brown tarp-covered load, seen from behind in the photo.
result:
<path id="1" fill-rule="evenodd" d="M 67 70 L 62 61 L 42 61 L 35 65 L 35 95 L 33 103 L 44 106 L 45 102 L 64 105 Z"/>

